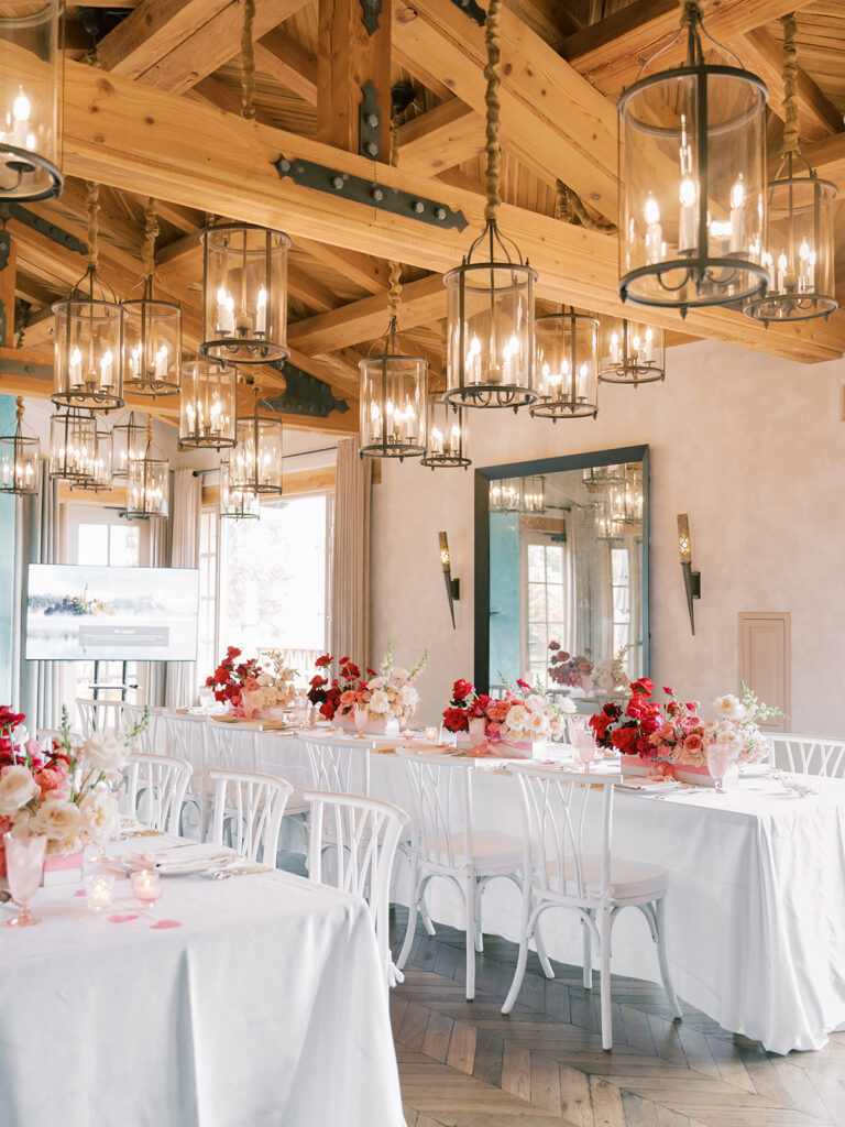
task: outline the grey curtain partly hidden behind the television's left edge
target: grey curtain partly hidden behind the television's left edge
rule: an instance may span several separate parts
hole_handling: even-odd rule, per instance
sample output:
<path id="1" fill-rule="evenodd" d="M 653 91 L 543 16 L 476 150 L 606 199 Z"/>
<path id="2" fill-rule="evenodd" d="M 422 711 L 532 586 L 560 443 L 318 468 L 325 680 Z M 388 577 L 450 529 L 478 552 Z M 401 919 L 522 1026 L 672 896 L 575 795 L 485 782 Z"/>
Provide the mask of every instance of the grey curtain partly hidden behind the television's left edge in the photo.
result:
<path id="1" fill-rule="evenodd" d="M 29 564 L 59 564 L 61 553 L 61 515 L 59 481 L 47 474 L 46 460 L 41 463 L 41 489 L 30 497 L 21 497 L 20 536 L 15 567 L 15 606 L 17 622 L 15 637 L 19 639 L 20 655 L 17 671 L 18 707 L 26 712 L 29 729 L 57 728 L 61 708 L 59 662 L 27 662 L 26 601 L 27 567 Z"/>

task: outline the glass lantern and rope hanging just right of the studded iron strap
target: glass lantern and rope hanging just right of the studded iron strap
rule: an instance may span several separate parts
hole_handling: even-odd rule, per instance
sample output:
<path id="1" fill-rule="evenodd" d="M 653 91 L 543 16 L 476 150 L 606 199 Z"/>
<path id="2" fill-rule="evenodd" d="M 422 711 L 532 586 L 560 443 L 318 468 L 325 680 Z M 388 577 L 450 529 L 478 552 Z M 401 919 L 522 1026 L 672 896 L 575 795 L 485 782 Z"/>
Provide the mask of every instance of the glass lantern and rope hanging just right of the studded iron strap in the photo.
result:
<path id="1" fill-rule="evenodd" d="M 487 45 L 486 227 L 461 266 L 444 276 L 448 326 L 445 399 L 461 407 L 521 407 L 537 399 L 534 285 L 537 275 L 499 231 L 499 7 L 490 0 Z"/>

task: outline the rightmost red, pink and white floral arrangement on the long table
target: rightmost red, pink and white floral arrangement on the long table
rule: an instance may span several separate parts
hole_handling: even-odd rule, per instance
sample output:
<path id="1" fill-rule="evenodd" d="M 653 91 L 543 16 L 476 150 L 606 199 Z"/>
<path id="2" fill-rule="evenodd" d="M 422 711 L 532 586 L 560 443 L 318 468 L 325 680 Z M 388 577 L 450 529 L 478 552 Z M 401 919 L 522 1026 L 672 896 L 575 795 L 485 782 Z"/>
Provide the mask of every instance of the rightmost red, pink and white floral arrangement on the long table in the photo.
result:
<path id="1" fill-rule="evenodd" d="M 745 683 L 741 700 L 730 693 L 717 696 L 712 720 L 701 719 L 697 701 L 682 702 L 667 685 L 664 692 L 668 700 L 660 704 L 652 699 L 655 685 L 649 677 L 634 681 L 624 709 L 608 702 L 590 717 L 596 743 L 643 763 L 700 770 L 706 769 L 708 747 L 715 743 L 727 745 L 732 762 L 757 763 L 768 756 L 768 743 L 758 725 L 784 713 L 762 704 Z"/>

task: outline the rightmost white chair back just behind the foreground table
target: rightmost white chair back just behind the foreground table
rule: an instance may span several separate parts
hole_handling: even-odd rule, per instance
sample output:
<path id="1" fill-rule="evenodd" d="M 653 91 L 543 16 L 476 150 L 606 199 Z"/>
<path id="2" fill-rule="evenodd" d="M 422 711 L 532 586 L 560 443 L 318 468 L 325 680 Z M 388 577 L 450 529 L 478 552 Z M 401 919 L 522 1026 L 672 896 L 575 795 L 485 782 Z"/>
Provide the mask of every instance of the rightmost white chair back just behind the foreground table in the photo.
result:
<path id="1" fill-rule="evenodd" d="M 367 902 L 384 979 L 388 986 L 393 986 L 397 970 L 389 942 L 390 881 L 404 810 L 359 795 L 308 790 L 303 798 L 311 804 L 309 878 L 329 882 L 322 864 L 323 835 L 328 832 L 337 853 L 332 867 L 335 879 L 330 882 Z"/>

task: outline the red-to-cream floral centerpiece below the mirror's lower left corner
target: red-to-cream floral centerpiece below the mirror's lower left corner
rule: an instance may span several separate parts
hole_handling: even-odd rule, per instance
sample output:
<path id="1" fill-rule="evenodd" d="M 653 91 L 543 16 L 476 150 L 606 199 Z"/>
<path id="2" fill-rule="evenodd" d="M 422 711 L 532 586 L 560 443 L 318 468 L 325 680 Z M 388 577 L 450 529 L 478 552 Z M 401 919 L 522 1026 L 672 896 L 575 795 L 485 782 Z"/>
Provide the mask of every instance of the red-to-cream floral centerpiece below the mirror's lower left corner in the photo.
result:
<path id="1" fill-rule="evenodd" d="M 495 754 L 497 745 L 508 749 L 531 753 L 534 740 L 558 739 L 563 735 L 563 713 L 573 712 L 575 706 L 566 700 L 553 703 L 537 682 L 507 684 L 501 700 L 479 693 L 469 681 L 456 681 L 452 686 L 452 701 L 443 713 L 443 726 L 456 734 L 469 731 L 470 721 L 482 720 L 484 743 L 481 754 Z"/>

